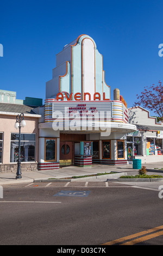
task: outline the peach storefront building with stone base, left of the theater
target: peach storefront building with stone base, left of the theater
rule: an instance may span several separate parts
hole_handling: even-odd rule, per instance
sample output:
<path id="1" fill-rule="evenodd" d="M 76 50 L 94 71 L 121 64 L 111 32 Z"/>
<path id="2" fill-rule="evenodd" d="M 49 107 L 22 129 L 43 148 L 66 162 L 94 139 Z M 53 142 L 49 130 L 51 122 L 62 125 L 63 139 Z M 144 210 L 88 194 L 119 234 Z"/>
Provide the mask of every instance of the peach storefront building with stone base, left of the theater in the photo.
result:
<path id="1" fill-rule="evenodd" d="M 39 118 L 35 108 L 42 99 L 17 100 L 16 92 L 0 90 L 0 172 L 15 172 L 18 160 L 17 114 L 23 113 L 26 126 L 21 128 L 22 170 L 37 170 L 39 157 Z"/>

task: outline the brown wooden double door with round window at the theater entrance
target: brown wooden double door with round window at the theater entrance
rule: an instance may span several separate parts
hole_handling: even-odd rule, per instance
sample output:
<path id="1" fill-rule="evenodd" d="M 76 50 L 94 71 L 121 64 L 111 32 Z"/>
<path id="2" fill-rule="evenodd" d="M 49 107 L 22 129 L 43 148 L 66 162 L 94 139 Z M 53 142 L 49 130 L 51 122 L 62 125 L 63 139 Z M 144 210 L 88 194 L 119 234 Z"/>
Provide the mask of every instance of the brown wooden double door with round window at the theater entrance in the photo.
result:
<path id="1" fill-rule="evenodd" d="M 73 164 L 74 143 L 72 141 L 60 141 L 60 166 Z"/>

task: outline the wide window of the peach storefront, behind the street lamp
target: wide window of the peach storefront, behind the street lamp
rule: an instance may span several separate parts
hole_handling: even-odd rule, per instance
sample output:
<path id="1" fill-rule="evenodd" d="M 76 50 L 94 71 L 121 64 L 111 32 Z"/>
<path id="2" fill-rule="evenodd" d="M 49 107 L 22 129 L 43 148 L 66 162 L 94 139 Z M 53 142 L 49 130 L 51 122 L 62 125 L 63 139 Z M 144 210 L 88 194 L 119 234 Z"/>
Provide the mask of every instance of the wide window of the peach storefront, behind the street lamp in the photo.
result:
<path id="1" fill-rule="evenodd" d="M 18 133 L 11 133 L 10 162 L 18 161 Z M 35 162 L 35 134 L 21 134 L 21 162 Z"/>

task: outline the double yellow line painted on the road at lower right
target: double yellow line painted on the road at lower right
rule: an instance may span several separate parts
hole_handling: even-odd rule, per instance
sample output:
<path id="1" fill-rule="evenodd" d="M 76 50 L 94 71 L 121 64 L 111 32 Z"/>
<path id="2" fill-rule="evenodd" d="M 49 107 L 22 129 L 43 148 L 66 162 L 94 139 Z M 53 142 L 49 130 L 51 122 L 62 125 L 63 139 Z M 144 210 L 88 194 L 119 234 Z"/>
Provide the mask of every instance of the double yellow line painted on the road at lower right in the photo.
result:
<path id="1" fill-rule="evenodd" d="M 130 240 L 130 239 L 134 239 L 137 236 L 142 236 L 140 238 L 121 243 L 121 245 L 135 245 L 135 243 L 140 243 L 140 242 L 152 239 L 154 237 L 163 235 L 163 230 L 159 231 L 160 229 L 163 229 L 163 225 L 161 225 L 159 227 L 156 227 L 156 228 L 148 229 L 148 230 L 145 230 L 145 231 L 133 234 L 133 235 L 124 236 L 124 237 L 121 237 L 120 239 L 116 239 L 116 240 L 113 240 L 113 241 L 110 241 L 110 242 L 103 243 L 102 245 L 115 245 L 117 243 L 121 243 L 121 242 Z M 147 235 L 147 234 L 152 233 L 152 232 L 155 232 L 155 233 Z M 143 235 L 147 235 L 147 236 L 143 236 Z"/>

